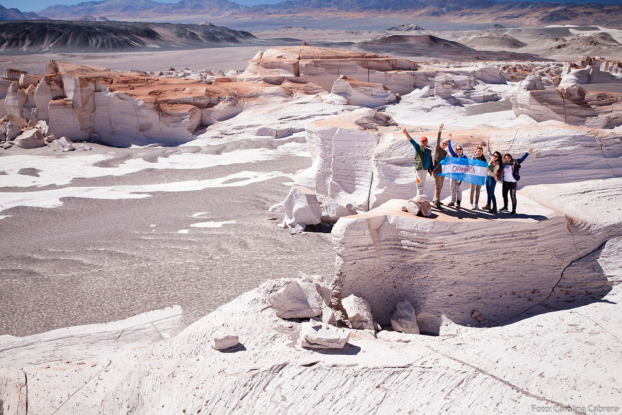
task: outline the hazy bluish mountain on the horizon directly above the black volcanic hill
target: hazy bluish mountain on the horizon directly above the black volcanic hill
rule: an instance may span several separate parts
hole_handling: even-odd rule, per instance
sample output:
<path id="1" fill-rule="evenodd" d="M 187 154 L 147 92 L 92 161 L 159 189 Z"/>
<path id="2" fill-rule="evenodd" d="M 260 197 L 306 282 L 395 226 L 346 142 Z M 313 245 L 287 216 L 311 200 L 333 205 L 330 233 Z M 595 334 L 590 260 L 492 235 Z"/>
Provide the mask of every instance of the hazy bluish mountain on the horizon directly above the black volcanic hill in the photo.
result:
<path id="1" fill-rule="evenodd" d="M 150 21 L 175 17 L 226 16 L 244 11 L 247 7 L 227 0 L 181 0 L 168 4 L 152 0 L 88 1 L 65 6 L 58 4 L 39 13 L 51 19 L 75 19 L 76 16 L 105 16 L 126 21 Z"/>

